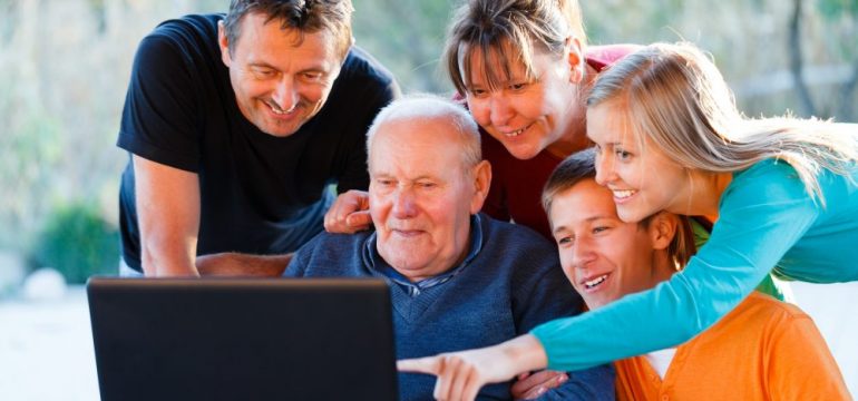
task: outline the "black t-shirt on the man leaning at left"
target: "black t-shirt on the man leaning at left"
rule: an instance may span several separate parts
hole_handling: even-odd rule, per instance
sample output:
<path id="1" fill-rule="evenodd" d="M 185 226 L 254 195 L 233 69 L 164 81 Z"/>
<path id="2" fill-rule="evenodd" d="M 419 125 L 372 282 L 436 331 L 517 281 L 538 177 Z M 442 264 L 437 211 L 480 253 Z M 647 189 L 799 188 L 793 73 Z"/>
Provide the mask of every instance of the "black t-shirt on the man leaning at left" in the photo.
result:
<path id="1" fill-rule="evenodd" d="M 158 26 L 137 49 L 117 146 L 196 173 L 197 255 L 282 254 L 322 229 L 326 190 L 367 189 L 365 133 L 399 88 L 367 52 L 352 48 L 319 114 L 287 137 L 261 131 L 238 109 L 221 60 L 222 14 Z M 123 257 L 140 270 L 134 168 L 119 193 Z"/>

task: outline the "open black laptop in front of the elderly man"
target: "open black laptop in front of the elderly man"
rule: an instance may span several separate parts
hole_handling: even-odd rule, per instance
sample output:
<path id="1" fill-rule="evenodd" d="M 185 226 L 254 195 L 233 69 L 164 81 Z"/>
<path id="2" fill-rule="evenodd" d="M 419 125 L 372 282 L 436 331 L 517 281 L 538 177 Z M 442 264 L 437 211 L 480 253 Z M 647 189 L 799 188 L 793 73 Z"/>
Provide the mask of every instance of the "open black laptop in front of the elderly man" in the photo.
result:
<path id="1" fill-rule="evenodd" d="M 396 400 L 381 280 L 87 283 L 101 400 Z"/>

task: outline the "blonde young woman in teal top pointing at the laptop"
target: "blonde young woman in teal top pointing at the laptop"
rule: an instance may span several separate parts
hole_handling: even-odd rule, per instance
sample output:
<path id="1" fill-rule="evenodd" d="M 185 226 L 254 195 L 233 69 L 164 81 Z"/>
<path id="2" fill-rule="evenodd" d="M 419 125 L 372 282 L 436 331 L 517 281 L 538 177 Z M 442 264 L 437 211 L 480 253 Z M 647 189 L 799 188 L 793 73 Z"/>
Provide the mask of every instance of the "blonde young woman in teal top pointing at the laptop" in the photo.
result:
<path id="1" fill-rule="evenodd" d="M 718 215 L 711 238 L 650 291 L 496 346 L 401 361 L 439 375 L 437 398 L 470 399 L 521 371 L 576 370 L 680 344 L 772 270 L 816 283 L 858 280 L 849 252 L 858 244 L 855 125 L 745 119 L 712 61 L 680 43 L 650 46 L 603 72 L 587 135 L 597 182 L 613 190 L 623 221 Z"/>

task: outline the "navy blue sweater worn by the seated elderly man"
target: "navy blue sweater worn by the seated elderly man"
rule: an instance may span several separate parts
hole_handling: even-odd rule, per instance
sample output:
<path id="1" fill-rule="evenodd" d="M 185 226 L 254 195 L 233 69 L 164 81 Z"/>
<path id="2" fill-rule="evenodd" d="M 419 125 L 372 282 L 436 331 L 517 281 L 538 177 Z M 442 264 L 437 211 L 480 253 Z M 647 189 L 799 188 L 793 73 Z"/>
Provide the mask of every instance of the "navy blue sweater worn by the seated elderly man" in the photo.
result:
<path id="1" fill-rule="evenodd" d="M 390 284 L 398 359 L 494 345 L 582 310 L 583 301 L 563 275 L 550 243 L 528 228 L 480 217 L 482 247 L 452 278 L 415 297 Z M 367 260 L 377 257 L 367 252 L 372 236 L 322 233 L 295 254 L 284 275 L 388 280 L 379 268 L 383 261 Z M 431 400 L 433 387 L 431 375 L 399 374 L 402 401 Z M 508 400 L 509 387 L 486 385 L 478 399 Z M 569 373 L 563 387 L 543 399 L 613 400 L 613 369 Z"/>

